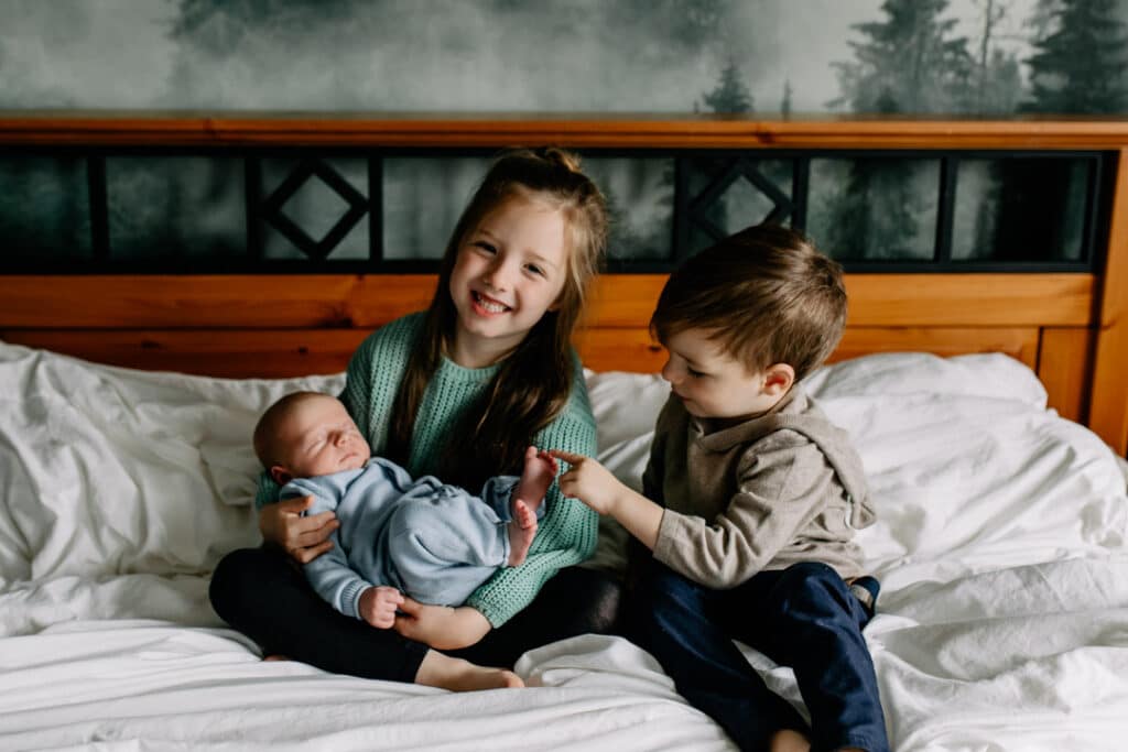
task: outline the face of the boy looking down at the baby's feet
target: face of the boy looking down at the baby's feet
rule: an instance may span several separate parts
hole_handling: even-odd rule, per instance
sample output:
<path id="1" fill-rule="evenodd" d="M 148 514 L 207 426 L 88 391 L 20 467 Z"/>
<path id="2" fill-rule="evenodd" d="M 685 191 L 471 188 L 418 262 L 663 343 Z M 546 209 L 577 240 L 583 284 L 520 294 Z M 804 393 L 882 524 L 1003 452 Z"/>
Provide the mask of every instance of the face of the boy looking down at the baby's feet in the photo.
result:
<path id="1" fill-rule="evenodd" d="M 772 409 L 791 388 L 794 371 L 772 365 L 763 373 L 749 373 L 743 363 L 708 338 L 711 333 L 686 329 L 664 343 L 670 356 L 662 366 L 662 378 L 670 382 L 686 412 L 699 418 L 737 422 Z"/>

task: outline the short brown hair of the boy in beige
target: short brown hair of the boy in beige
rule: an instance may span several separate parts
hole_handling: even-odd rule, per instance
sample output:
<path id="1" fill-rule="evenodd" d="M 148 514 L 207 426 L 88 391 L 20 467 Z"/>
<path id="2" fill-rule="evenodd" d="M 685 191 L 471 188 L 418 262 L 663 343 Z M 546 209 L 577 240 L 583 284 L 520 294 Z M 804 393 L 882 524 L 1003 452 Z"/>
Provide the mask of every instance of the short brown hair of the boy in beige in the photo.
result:
<path id="1" fill-rule="evenodd" d="M 834 352 L 845 326 L 841 266 L 801 232 L 775 224 L 741 230 L 682 264 L 650 319 L 659 342 L 710 329 L 750 373 L 786 363 L 796 381 Z"/>

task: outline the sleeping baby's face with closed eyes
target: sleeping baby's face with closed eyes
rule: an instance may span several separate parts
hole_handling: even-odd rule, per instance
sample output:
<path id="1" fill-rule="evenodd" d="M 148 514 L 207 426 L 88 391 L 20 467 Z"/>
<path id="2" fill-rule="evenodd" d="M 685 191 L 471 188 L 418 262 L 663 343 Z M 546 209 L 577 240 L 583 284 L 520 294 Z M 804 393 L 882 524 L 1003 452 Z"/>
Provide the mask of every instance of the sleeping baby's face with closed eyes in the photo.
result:
<path id="1" fill-rule="evenodd" d="M 288 448 L 287 469 L 296 478 L 358 470 L 372 455 L 345 406 L 328 395 L 302 400 L 279 439 Z"/>

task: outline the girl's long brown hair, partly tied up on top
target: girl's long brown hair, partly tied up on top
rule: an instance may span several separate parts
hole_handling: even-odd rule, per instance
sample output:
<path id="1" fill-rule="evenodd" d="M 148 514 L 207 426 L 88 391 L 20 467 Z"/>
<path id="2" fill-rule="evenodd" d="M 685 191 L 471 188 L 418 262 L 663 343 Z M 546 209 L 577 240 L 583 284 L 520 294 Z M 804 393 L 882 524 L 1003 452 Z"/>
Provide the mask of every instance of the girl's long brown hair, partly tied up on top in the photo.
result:
<path id="1" fill-rule="evenodd" d="M 393 404 L 388 455 L 400 463 L 407 461 L 428 383 L 453 343 L 458 312 L 450 297 L 450 276 L 458 253 L 487 214 L 514 198 L 561 211 L 567 274 L 556 309 L 547 311 L 504 359 L 482 397 L 446 440 L 439 475 L 446 483 L 469 488 L 479 487 L 490 476 L 519 475 L 532 437 L 567 402 L 575 374 L 572 333 L 607 239 L 603 196 L 570 152 L 513 150 L 493 163 L 447 244 L 434 298 Z"/>

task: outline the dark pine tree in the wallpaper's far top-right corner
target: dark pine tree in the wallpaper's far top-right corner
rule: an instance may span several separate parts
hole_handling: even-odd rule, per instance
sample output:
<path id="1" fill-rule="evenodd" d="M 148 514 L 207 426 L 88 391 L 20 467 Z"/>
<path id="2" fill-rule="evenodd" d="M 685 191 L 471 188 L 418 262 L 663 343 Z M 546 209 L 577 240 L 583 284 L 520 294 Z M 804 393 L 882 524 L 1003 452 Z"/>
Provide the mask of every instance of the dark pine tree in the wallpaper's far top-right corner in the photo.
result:
<path id="1" fill-rule="evenodd" d="M 1128 109 L 1128 34 L 1116 0 L 1059 0 L 1030 67 L 1033 113 L 1100 115 Z"/>

